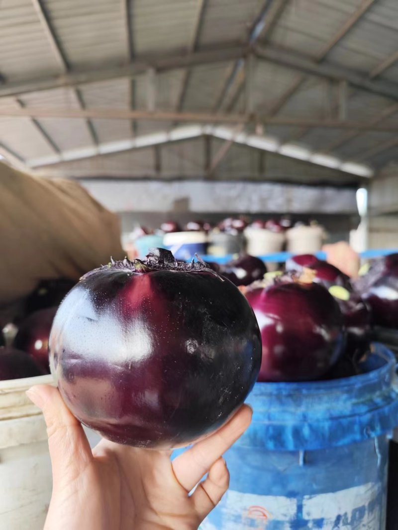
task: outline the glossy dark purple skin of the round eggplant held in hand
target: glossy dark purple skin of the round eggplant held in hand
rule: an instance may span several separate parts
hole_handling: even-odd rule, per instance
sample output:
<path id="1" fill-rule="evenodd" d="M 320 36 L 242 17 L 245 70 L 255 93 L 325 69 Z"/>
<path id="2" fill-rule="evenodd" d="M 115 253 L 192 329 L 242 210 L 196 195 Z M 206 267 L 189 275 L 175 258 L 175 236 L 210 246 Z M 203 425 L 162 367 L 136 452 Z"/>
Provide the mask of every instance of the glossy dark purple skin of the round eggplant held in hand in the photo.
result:
<path id="1" fill-rule="evenodd" d="M 67 406 L 132 446 L 177 447 L 217 429 L 260 363 L 252 309 L 212 272 L 94 271 L 60 305 L 50 335 Z"/>

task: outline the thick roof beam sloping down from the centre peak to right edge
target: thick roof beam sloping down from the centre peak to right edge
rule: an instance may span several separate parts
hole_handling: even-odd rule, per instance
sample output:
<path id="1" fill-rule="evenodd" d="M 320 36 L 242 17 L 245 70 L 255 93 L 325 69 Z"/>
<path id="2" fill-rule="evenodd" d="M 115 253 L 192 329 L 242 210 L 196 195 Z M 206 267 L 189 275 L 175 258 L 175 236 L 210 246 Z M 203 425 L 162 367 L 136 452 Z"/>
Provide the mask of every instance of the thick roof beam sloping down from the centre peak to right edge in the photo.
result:
<path id="1" fill-rule="evenodd" d="M 317 77 L 326 77 L 335 81 L 347 81 L 347 83 L 358 89 L 398 100 L 398 84 L 390 81 L 372 81 L 348 68 L 331 63 L 316 63 L 304 55 L 277 47 L 255 46 L 255 53 L 258 58 L 271 63 Z"/>

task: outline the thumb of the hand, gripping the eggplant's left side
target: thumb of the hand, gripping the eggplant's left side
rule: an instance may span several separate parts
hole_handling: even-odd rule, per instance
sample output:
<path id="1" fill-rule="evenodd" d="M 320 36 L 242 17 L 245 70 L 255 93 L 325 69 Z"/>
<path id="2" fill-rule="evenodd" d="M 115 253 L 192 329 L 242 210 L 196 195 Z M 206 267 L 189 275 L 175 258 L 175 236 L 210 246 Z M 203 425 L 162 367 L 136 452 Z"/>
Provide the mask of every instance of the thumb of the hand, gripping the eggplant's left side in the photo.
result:
<path id="1" fill-rule="evenodd" d="M 58 388 L 35 385 L 27 396 L 44 414 L 54 487 L 75 480 L 92 459 L 81 423 L 66 407 Z"/>

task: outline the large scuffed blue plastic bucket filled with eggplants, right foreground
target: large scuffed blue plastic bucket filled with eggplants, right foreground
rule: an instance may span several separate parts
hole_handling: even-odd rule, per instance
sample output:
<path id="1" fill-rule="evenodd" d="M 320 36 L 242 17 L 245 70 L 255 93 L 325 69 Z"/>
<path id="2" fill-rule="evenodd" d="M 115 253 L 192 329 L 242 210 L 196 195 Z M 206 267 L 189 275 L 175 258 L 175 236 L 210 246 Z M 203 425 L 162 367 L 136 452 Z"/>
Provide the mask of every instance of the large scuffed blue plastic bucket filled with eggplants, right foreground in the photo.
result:
<path id="1" fill-rule="evenodd" d="M 230 488 L 201 530 L 383 530 L 395 363 L 377 344 L 365 374 L 257 383 L 252 425 L 225 455 Z"/>

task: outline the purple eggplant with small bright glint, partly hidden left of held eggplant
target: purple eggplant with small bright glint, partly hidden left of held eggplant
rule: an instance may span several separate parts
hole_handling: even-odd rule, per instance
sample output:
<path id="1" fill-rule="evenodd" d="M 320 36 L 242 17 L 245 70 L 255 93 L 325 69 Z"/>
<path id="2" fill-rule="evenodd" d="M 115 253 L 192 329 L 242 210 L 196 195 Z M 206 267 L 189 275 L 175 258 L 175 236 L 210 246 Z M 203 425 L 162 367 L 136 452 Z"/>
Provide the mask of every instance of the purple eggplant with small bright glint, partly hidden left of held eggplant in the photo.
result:
<path id="1" fill-rule="evenodd" d="M 34 357 L 46 374 L 50 373 L 48 338 L 56 312 L 56 307 L 49 307 L 30 314 L 21 322 L 13 342 L 14 348 Z"/>

